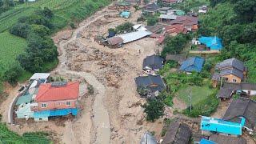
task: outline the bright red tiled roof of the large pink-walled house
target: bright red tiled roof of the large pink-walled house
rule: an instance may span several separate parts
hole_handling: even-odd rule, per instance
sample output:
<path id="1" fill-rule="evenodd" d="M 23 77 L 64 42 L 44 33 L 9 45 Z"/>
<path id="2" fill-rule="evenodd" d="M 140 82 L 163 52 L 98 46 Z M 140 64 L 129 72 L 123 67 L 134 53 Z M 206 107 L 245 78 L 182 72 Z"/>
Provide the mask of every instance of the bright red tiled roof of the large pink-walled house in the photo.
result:
<path id="1" fill-rule="evenodd" d="M 49 102 L 78 98 L 79 82 L 67 82 L 58 86 L 54 83 L 45 83 L 39 86 L 36 102 Z"/>

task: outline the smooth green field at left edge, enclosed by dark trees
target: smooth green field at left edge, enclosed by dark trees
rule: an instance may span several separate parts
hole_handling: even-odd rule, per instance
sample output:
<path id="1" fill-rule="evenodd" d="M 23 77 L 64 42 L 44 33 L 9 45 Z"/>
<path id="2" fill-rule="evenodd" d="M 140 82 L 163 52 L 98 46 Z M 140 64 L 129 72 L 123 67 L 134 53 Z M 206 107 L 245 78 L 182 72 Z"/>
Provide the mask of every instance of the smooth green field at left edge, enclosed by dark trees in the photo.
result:
<path id="1" fill-rule="evenodd" d="M 16 56 L 26 48 L 26 40 L 9 32 L 0 34 L 0 74 L 10 63 L 16 62 Z"/>

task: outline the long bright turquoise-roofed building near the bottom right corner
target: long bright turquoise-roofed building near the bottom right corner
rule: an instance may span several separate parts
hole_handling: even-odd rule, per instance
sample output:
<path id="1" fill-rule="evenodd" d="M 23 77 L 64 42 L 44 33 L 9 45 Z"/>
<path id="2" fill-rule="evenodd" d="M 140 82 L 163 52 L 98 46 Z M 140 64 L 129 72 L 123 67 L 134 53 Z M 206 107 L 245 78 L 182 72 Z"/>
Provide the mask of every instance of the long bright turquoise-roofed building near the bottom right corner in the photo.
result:
<path id="1" fill-rule="evenodd" d="M 222 134 L 231 134 L 234 136 L 242 135 L 242 127 L 246 119 L 241 117 L 241 122 L 228 122 L 218 118 L 202 116 L 201 130 L 204 132 L 217 132 Z"/>

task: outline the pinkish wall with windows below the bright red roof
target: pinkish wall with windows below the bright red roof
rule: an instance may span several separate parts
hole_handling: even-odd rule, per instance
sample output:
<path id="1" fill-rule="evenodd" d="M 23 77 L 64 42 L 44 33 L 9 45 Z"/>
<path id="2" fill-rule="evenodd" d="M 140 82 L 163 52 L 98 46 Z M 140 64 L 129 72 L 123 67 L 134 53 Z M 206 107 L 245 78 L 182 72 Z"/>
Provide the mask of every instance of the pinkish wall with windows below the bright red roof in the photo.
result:
<path id="1" fill-rule="evenodd" d="M 70 102 L 71 105 L 67 106 L 66 102 Z M 42 107 L 42 104 L 46 103 L 46 107 Z M 38 102 L 38 106 L 33 107 L 33 111 L 41 111 L 41 110 L 55 110 L 55 109 L 69 109 L 69 108 L 77 108 L 78 107 L 78 99 L 70 99 L 64 101 L 52 101 L 52 102 Z"/>

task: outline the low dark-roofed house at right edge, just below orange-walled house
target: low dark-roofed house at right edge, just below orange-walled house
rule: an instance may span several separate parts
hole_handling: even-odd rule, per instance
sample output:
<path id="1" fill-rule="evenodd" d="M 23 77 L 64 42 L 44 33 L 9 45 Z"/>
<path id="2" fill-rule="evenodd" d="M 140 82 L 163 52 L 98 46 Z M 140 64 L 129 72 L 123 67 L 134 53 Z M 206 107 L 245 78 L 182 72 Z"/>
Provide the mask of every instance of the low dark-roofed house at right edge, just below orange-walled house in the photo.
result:
<path id="1" fill-rule="evenodd" d="M 227 98 L 232 98 L 234 94 L 248 98 L 256 96 L 256 83 L 224 82 L 218 91 L 217 98 L 226 100 Z"/>

